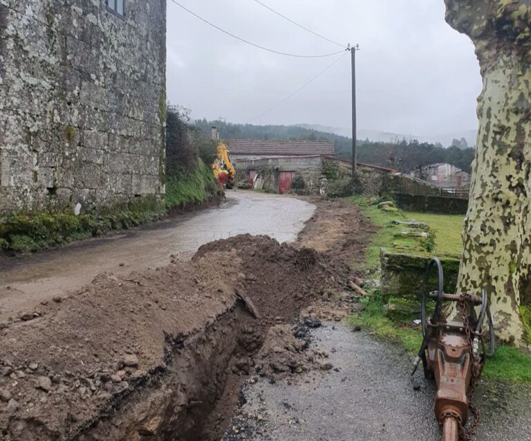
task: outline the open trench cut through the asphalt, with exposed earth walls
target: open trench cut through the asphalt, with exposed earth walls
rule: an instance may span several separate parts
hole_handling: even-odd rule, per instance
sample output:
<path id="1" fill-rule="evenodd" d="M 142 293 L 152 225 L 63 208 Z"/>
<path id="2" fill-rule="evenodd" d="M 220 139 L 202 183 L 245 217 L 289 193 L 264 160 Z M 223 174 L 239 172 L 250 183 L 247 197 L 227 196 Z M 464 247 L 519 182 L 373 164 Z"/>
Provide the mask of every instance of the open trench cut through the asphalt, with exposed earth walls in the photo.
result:
<path id="1" fill-rule="evenodd" d="M 204 330 L 167 341 L 165 368 L 152 372 L 109 416 L 78 435 L 84 440 L 218 440 L 237 403 L 240 372 L 231 366 L 259 349 L 261 332 L 238 300 Z M 75 438 L 78 438 L 76 436 Z"/>

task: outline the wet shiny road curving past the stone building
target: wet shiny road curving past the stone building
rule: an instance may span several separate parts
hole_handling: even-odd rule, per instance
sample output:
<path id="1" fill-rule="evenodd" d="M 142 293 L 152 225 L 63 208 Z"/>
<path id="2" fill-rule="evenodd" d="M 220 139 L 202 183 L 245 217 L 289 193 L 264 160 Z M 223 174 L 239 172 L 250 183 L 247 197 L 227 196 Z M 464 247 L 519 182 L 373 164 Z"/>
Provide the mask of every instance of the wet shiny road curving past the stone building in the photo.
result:
<path id="1" fill-rule="evenodd" d="M 129 274 L 189 259 L 199 246 L 242 233 L 295 240 L 315 211 L 306 201 L 258 192 L 227 192 L 219 207 L 147 228 L 13 258 L 0 267 L 0 318 L 80 289 L 103 271 Z"/>

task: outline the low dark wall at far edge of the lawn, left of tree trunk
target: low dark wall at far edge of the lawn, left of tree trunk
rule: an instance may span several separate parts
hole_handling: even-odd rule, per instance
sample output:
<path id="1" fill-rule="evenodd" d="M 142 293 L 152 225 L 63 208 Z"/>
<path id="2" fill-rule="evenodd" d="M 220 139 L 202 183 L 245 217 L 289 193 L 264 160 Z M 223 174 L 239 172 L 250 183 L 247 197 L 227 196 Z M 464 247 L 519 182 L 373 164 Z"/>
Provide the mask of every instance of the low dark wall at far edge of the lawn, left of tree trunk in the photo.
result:
<path id="1" fill-rule="evenodd" d="M 393 198 L 398 208 L 404 211 L 465 215 L 468 208 L 468 199 L 460 197 L 409 195 L 395 192 Z"/>

